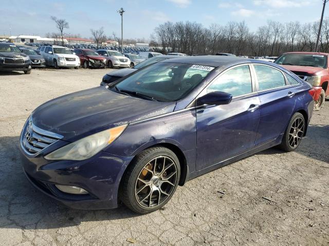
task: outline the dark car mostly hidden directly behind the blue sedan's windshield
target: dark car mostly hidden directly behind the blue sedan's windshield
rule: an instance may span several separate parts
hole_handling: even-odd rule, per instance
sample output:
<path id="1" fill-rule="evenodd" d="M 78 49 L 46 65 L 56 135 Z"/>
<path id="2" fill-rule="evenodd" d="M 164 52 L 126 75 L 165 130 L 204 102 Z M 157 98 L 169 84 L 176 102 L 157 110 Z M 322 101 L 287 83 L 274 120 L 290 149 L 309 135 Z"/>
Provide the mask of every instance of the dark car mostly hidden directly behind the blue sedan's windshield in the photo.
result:
<path id="1" fill-rule="evenodd" d="M 103 76 L 101 81 L 101 86 L 111 84 L 114 81 L 118 80 L 119 78 L 131 74 L 137 71 L 138 69 L 144 68 L 154 63 L 158 63 L 161 60 L 167 60 L 172 58 L 177 58 L 177 55 L 159 55 L 142 61 L 141 63 L 137 64 L 134 68 L 123 68 L 117 71 L 108 72 Z"/>

